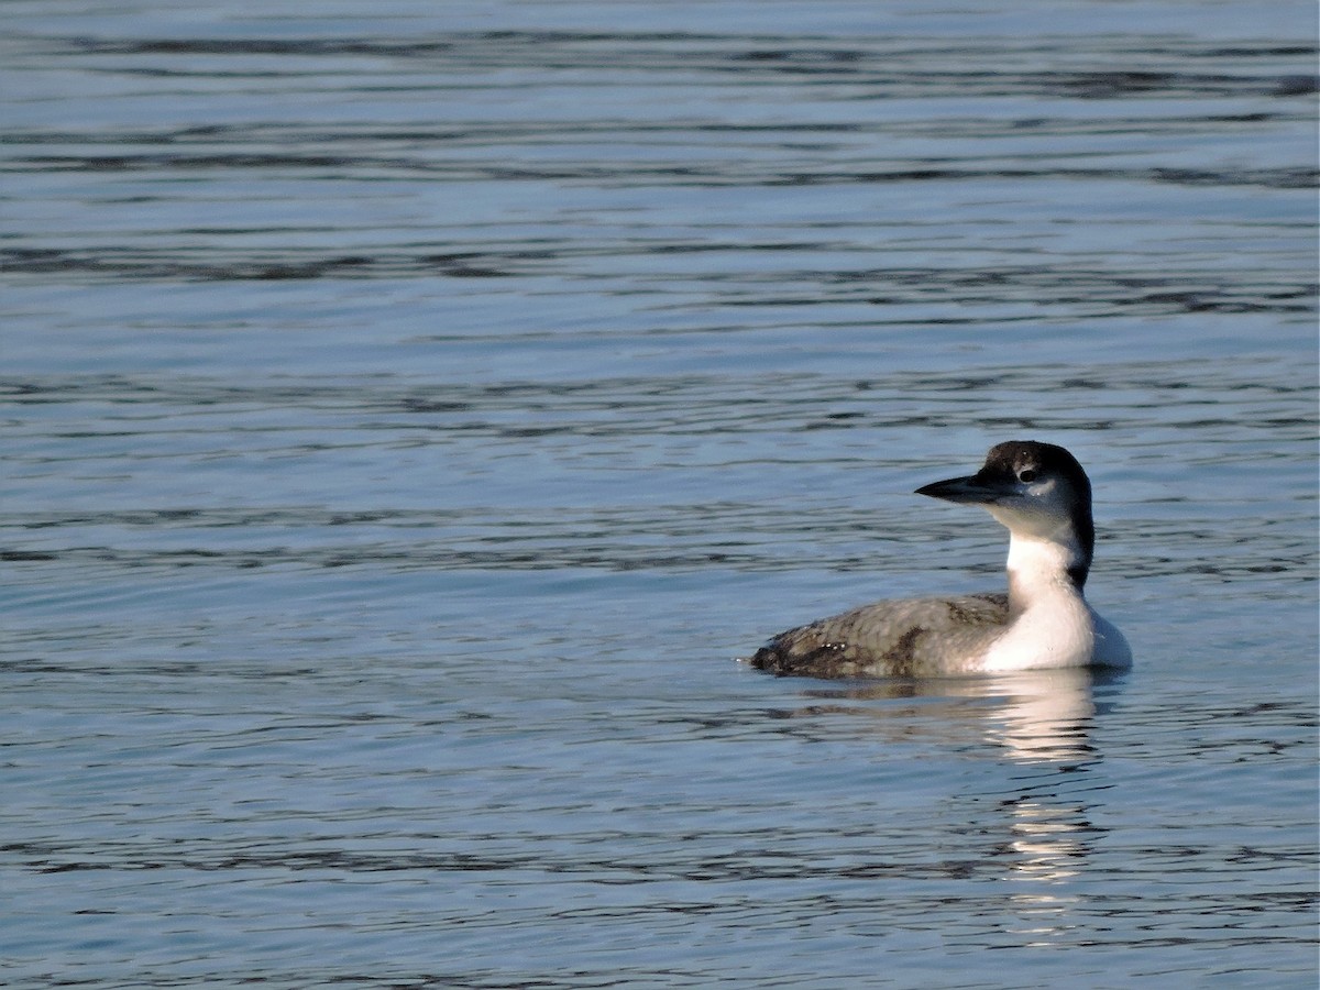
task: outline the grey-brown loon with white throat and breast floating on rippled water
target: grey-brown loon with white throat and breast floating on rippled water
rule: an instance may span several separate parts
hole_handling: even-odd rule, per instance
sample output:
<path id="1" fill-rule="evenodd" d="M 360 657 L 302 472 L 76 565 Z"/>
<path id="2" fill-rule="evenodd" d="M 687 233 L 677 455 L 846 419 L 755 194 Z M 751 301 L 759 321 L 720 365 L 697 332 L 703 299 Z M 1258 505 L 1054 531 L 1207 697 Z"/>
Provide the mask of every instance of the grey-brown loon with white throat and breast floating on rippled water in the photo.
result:
<path id="1" fill-rule="evenodd" d="M 788 630 L 751 665 L 808 677 L 948 677 L 1126 668 L 1133 653 L 1082 597 L 1096 544 L 1090 479 L 1053 444 L 990 447 L 981 470 L 916 490 L 1008 528 L 1008 594 L 876 602 Z"/>

